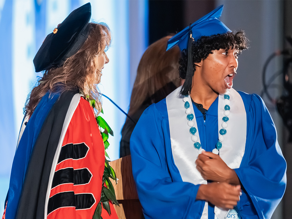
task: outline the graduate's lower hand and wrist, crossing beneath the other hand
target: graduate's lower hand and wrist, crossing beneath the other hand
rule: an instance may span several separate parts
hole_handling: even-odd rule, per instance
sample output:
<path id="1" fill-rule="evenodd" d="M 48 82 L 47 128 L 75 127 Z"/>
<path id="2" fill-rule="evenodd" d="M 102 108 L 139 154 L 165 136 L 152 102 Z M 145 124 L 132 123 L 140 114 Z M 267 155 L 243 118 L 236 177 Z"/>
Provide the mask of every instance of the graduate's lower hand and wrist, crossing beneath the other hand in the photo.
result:
<path id="1" fill-rule="evenodd" d="M 225 210 L 233 209 L 240 196 L 240 185 L 228 183 L 208 183 L 200 185 L 196 200 L 205 200 Z"/>

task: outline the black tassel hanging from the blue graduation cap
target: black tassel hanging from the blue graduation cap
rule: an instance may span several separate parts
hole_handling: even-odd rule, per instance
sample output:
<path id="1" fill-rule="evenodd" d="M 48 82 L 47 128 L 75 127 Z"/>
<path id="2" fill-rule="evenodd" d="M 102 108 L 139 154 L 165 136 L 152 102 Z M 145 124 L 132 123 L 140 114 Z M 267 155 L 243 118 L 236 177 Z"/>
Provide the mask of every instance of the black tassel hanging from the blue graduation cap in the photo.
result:
<path id="1" fill-rule="evenodd" d="M 188 95 L 189 91 L 192 88 L 192 79 L 194 76 L 194 63 L 193 63 L 193 41 L 194 38 L 192 38 L 192 29 L 190 24 L 190 32 L 189 32 L 189 40 L 187 43 L 187 72 L 185 75 L 185 82 L 183 84 L 183 87 L 180 91 L 182 95 Z"/>

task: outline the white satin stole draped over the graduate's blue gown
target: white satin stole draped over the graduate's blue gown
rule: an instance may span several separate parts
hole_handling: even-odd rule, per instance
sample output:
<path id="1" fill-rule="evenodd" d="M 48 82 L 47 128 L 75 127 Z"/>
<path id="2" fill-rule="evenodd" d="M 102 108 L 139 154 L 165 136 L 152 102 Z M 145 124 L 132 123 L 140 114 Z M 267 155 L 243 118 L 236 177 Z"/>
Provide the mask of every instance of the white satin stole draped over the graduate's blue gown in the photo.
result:
<path id="1" fill-rule="evenodd" d="M 190 126 L 187 122 L 187 114 L 183 102 L 183 95 L 180 94 L 181 87 L 175 89 L 166 97 L 166 105 L 169 120 L 169 130 L 171 138 L 171 150 L 174 163 L 178 168 L 184 182 L 194 185 L 207 184 L 196 168 L 195 161 L 198 158 L 198 150 L 194 148 L 194 142 L 191 140 Z M 230 93 L 230 115 L 224 135 L 222 148 L 220 151 L 221 159 L 232 169 L 239 168 L 245 151 L 246 143 L 246 111 L 244 103 L 237 91 L 229 89 Z M 190 98 L 190 96 L 189 96 Z M 224 94 L 218 97 L 218 136 L 222 128 L 222 118 L 224 117 Z M 191 98 L 190 98 L 191 100 Z M 194 114 L 192 102 L 190 102 L 191 113 Z M 194 114 L 194 126 L 198 130 L 196 117 Z M 196 135 L 199 137 L 199 132 Z M 201 142 L 200 142 L 201 143 Z M 216 142 L 214 142 L 215 148 Z M 196 195 L 196 194 L 194 194 Z M 224 219 L 227 211 L 215 206 L 215 219 Z M 205 203 L 201 219 L 208 219 L 208 202 Z"/>

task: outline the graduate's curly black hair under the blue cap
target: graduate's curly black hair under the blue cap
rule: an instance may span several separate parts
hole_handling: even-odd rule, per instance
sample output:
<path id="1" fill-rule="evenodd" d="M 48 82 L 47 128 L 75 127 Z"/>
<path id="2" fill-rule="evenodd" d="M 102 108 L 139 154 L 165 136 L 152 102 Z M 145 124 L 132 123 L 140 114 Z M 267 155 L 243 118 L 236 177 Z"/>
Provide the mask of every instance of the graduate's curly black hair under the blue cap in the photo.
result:
<path id="1" fill-rule="evenodd" d="M 238 32 L 227 32 L 225 34 L 217 34 L 212 36 L 202 36 L 197 41 L 194 41 L 192 44 L 193 47 L 193 55 L 192 62 L 198 63 L 201 60 L 206 59 L 210 53 L 213 53 L 213 50 L 219 49 L 239 49 L 239 53 L 241 51 L 248 48 L 248 39 L 244 31 L 240 30 Z M 181 57 L 179 59 L 180 67 L 179 73 L 182 79 L 186 78 L 187 72 L 187 49 L 184 49 L 181 53 Z M 193 64 L 193 75 L 196 71 L 196 66 Z M 192 75 L 192 76 L 193 76 Z M 192 77 L 189 79 L 191 80 Z M 181 90 L 182 95 L 187 95 L 188 92 L 192 88 L 192 81 L 185 81 L 183 88 Z"/>

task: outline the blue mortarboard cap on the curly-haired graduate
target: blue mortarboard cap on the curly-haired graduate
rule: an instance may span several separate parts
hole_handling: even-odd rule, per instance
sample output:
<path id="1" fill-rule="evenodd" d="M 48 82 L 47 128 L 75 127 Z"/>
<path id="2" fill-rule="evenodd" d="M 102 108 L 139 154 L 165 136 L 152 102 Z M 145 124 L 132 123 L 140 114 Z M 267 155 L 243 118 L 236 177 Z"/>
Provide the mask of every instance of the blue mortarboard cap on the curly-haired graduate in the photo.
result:
<path id="1" fill-rule="evenodd" d="M 223 5 L 200 18 L 191 24 L 190 27 L 188 26 L 175 34 L 168 40 L 166 51 L 173 48 L 176 44 L 178 44 L 181 51 L 186 49 L 188 47 L 188 39 L 190 38 L 190 30 L 192 31 L 192 38 L 194 38 L 195 41 L 201 36 L 211 36 L 214 34 L 231 32 L 231 30 L 218 19 L 221 17 L 222 11 Z"/>

